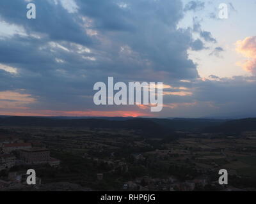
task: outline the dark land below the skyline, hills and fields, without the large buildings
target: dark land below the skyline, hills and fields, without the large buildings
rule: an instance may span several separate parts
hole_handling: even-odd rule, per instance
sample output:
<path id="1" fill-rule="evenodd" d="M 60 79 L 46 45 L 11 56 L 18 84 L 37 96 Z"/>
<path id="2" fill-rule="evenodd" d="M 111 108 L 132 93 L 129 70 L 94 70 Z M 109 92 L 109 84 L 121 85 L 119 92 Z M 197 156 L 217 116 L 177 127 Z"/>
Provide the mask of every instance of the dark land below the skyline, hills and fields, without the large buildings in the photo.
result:
<path id="1" fill-rule="evenodd" d="M 1 117 L 0 124 L 1 156 L 15 157 L 0 172 L 2 191 L 256 190 L 256 119 Z M 20 150 L 6 153 L 8 143 L 48 149 L 60 164 L 28 164 Z M 13 180 L 29 168 L 40 184 Z M 226 186 L 218 184 L 221 169 Z"/>

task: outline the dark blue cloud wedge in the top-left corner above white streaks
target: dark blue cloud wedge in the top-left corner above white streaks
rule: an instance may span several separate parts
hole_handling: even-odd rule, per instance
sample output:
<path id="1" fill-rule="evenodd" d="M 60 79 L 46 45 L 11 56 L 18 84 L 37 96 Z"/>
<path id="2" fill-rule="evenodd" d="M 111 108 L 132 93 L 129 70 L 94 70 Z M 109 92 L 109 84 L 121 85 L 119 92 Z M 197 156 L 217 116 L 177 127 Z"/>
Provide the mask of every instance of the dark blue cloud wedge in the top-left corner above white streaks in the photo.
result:
<path id="1" fill-rule="evenodd" d="M 54 1 L 36 0 L 36 19 L 26 18 L 25 1 L 0 1 L 0 17 L 10 23 L 22 25 L 28 32 L 47 34 L 51 40 L 66 40 L 87 45 L 92 40 L 86 35 L 83 21 L 74 13 L 68 13 Z"/>

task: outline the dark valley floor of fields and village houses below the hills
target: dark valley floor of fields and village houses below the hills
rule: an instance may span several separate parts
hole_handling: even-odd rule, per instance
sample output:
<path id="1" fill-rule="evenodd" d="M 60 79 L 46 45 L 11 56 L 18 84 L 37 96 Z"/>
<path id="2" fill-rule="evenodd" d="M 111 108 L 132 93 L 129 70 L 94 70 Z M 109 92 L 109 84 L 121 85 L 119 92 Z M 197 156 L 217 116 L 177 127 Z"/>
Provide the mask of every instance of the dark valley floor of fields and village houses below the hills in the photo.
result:
<path id="1" fill-rule="evenodd" d="M 5 128 L 10 131 L 10 128 Z M 113 191 L 236 191 L 252 179 L 255 133 L 234 138 L 196 135 L 166 141 L 119 129 L 15 128 L 0 135 L 0 187 L 23 183 L 35 168 L 38 185 Z M 218 171 L 228 170 L 228 184 Z M 233 185 L 232 185 L 233 183 Z M 1 188 L 0 188 L 1 189 Z"/>

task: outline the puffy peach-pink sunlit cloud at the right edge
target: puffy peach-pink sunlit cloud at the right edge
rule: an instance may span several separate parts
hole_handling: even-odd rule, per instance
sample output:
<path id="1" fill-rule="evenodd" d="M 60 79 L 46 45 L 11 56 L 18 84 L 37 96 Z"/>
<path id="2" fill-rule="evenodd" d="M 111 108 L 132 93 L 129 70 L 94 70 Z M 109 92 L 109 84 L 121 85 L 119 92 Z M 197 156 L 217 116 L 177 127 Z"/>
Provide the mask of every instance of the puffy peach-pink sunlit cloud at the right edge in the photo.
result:
<path id="1" fill-rule="evenodd" d="M 248 59 L 245 62 L 237 62 L 245 71 L 256 73 L 256 36 L 244 38 L 236 42 L 236 51 Z"/>

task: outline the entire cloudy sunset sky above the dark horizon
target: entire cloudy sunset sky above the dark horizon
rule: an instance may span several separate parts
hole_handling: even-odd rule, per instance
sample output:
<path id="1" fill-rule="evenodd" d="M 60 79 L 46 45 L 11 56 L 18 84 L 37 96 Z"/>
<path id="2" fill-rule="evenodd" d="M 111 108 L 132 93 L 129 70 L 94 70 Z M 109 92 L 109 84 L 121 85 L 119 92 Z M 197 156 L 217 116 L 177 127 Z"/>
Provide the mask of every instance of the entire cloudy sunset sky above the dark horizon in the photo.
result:
<path id="1" fill-rule="evenodd" d="M 0 115 L 255 117 L 255 10 L 255 0 L 1 0 Z M 163 110 L 95 105 L 93 85 L 108 77 L 163 82 Z"/>

